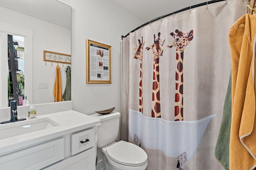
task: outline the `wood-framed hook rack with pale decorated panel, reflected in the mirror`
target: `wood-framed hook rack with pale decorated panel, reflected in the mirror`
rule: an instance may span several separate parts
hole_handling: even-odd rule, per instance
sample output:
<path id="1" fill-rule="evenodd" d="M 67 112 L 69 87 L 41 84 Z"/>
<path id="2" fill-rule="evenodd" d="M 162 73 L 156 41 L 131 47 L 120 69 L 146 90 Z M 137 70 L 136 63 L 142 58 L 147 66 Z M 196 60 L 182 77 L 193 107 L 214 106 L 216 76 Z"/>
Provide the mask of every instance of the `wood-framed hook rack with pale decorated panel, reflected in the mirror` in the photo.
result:
<path id="1" fill-rule="evenodd" d="M 71 64 L 71 55 L 44 51 L 44 61 Z"/>

